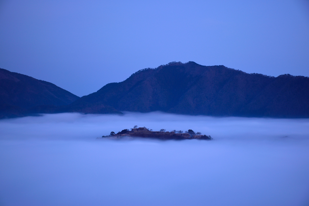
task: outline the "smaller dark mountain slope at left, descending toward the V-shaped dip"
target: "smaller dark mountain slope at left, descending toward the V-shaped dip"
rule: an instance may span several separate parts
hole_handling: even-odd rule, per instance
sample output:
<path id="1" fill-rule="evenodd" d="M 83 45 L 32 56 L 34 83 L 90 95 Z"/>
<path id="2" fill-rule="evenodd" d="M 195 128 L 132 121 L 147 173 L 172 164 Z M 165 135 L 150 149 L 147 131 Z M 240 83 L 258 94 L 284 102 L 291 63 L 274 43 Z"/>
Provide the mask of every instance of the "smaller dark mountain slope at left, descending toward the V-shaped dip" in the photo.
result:
<path id="1" fill-rule="evenodd" d="M 0 69 L 0 118 L 55 111 L 78 96 L 60 87 L 27 75 Z"/>

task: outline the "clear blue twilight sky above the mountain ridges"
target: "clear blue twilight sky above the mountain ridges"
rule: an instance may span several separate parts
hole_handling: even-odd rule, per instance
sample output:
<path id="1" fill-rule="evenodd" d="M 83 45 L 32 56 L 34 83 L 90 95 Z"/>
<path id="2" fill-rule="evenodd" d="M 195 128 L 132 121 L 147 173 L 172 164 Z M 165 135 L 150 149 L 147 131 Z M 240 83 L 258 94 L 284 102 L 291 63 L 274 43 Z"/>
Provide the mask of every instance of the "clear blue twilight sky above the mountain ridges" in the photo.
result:
<path id="1" fill-rule="evenodd" d="M 171 61 L 309 76 L 309 1 L 3 1 L 0 68 L 95 92 Z"/>

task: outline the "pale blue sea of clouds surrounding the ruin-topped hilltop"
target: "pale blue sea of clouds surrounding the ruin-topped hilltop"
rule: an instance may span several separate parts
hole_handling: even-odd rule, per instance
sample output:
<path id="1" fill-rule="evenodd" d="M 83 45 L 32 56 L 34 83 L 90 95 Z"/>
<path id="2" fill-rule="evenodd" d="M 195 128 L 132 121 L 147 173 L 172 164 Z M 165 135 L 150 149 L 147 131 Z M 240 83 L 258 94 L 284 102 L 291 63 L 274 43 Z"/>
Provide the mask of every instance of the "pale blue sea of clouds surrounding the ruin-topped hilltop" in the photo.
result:
<path id="1" fill-rule="evenodd" d="M 96 139 L 139 127 L 213 141 Z M 0 120 L 0 205 L 309 205 L 309 119 L 50 114 Z"/>

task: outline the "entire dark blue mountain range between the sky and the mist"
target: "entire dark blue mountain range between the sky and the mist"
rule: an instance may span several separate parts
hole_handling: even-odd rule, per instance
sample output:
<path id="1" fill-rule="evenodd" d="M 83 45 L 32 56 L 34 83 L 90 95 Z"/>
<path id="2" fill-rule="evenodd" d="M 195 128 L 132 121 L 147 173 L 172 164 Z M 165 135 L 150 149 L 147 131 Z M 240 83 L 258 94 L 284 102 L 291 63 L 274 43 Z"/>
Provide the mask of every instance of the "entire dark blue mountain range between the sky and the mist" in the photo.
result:
<path id="1" fill-rule="evenodd" d="M 79 98 L 60 87 L 0 69 L 0 118 L 37 113 L 164 111 L 246 117 L 309 117 L 309 78 L 247 74 L 223 65 L 171 62 L 142 69 Z"/>

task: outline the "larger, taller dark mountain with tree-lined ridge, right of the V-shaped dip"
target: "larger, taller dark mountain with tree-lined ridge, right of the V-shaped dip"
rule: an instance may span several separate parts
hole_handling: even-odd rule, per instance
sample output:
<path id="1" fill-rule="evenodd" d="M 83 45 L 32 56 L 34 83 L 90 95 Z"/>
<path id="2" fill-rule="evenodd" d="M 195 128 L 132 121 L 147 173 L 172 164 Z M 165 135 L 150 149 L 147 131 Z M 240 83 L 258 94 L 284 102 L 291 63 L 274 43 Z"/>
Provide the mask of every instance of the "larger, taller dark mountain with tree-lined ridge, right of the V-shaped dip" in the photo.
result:
<path id="1" fill-rule="evenodd" d="M 96 105 L 92 106 L 92 105 Z M 165 111 L 177 114 L 247 117 L 309 117 L 309 78 L 247 74 L 223 65 L 171 62 L 142 69 L 76 100 L 67 111 L 106 113 Z"/>

